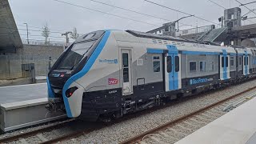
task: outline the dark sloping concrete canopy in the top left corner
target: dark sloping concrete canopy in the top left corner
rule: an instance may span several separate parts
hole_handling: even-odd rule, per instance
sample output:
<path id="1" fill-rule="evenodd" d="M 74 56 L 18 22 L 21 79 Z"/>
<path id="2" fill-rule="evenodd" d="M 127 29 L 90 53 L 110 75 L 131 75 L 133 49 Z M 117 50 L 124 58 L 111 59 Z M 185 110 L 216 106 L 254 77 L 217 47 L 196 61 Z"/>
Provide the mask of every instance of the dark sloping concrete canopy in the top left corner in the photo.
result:
<path id="1" fill-rule="evenodd" d="M 0 0 L 0 53 L 15 53 L 22 48 L 22 39 L 8 0 Z"/>

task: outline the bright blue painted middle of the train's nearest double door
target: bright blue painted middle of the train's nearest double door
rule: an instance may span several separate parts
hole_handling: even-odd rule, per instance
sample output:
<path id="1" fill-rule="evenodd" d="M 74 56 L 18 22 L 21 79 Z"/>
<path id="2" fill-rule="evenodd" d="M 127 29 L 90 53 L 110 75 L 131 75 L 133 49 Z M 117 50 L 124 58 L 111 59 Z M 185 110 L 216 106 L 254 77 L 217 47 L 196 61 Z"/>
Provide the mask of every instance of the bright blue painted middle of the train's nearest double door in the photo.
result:
<path id="1" fill-rule="evenodd" d="M 178 90 L 178 72 L 175 71 L 175 56 L 178 56 L 176 46 L 167 45 L 168 56 L 172 59 L 172 71 L 169 73 L 169 90 Z"/>

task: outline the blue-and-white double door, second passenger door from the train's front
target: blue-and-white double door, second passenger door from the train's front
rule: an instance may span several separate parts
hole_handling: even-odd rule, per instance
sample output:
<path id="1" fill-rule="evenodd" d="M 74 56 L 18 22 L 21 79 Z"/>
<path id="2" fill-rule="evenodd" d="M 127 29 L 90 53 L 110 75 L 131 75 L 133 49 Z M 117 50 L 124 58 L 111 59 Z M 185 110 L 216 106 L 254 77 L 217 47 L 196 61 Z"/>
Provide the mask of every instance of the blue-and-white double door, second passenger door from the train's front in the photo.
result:
<path id="1" fill-rule="evenodd" d="M 230 78 L 230 66 L 229 66 L 229 55 L 227 55 L 226 50 L 222 50 L 222 55 L 220 55 L 220 78 L 221 80 L 226 80 Z"/>

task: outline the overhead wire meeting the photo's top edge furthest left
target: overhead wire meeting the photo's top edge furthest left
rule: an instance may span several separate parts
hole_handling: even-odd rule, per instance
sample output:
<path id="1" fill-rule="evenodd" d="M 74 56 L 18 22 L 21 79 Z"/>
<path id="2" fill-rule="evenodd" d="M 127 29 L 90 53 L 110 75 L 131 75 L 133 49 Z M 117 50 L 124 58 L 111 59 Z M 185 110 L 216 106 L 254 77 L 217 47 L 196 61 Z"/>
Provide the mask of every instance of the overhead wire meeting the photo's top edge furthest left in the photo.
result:
<path id="1" fill-rule="evenodd" d="M 155 25 L 153 23 L 142 22 L 140 20 L 136 20 L 136 19 L 133 19 L 133 18 L 127 18 L 127 17 L 123 17 L 123 16 L 120 16 L 120 15 L 117 15 L 117 14 L 111 14 L 111 13 L 107 13 L 107 12 L 104 12 L 104 11 L 101 11 L 101 10 L 95 10 L 95 9 L 92 9 L 92 8 L 89 8 L 89 7 L 86 7 L 86 6 L 80 6 L 80 5 L 77 5 L 77 4 L 74 4 L 74 3 L 70 3 L 70 2 L 64 2 L 64 1 L 60 1 L 60 0 L 53 0 L 53 1 L 61 2 L 61 3 L 64 3 L 66 5 L 70 5 L 70 6 L 76 6 L 76 7 L 82 8 L 82 9 L 86 9 L 86 10 L 96 11 L 96 12 L 102 13 L 102 14 L 109 14 L 109 15 L 112 15 L 114 17 L 123 18 L 123 19 L 127 19 L 127 20 L 130 20 L 130 21 L 134 21 L 134 22 L 140 22 L 140 23 L 144 23 L 144 24 L 147 24 L 147 25 L 151 25 L 151 26 L 158 26 L 158 25 Z"/>

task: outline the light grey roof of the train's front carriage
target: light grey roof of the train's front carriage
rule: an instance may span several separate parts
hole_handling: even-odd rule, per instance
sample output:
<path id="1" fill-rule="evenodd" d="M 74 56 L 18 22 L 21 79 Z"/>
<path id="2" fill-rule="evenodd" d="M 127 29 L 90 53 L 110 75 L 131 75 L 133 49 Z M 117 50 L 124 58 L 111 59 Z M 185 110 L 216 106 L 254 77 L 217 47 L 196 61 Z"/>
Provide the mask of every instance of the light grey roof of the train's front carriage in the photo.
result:
<path id="1" fill-rule="evenodd" d="M 227 53 L 236 53 L 233 47 L 206 45 L 204 43 L 186 41 L 182 38 L 161 36 L 158 34 L 147 34 L 131 30 L 115 31 L 115 38 L 119 41 L 127 41 L 127 39 L 129 39 L 128 41 L 135 42 L 134 38 L 132 37 L 139 38 L 139 42 L 146 43 L 147 48 L 156 50 L 167 50 L 166 45 L 174 45 L 177 46 L 178 50 L 183 51 L 222 53 L 222 50 L 224 49 Z"/>

